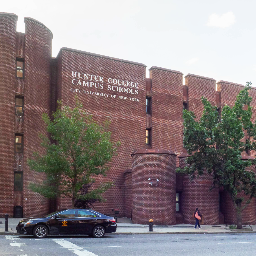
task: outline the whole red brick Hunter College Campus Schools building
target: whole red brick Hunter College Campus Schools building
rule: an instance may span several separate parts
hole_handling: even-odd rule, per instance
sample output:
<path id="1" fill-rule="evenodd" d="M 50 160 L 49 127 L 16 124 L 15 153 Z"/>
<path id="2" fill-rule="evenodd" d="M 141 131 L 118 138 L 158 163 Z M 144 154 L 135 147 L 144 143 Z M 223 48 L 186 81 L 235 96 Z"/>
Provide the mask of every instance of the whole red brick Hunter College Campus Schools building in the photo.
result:
<path id="1" fill-rule="evenodd" d="M 30 182 L 42 182 L 41 173 L 31 171 L 27 159 L 34 151 L 44 153 L 38 133 L 46 133 L 42 114 L 51 114 L 57 99 L 75 105 L 75 95 L 93 119 L 111 121 L 114 141 L 121 141 L 107 177 L 115 186 L 96 203 L 96 211 L 132 218 L 135 223 L 173 225 L 194 223 L 196 207 L 212 225 L 236 221 L 230 198 L 221 189 L 209 191 L 211 176 L 191 182 L 176 175 L 184 166 L 182 109 L 203 111 L 201 96 L 221 108 L 233 105 L 243 85 L 146 66 L 63 47 L 52 57 L 52 32 L 41 22 L 26 17 L 25 33 L 16 32 L 18 16 L 0 13 L 0 217 L 14 215 L 22 207 L 23 217 L 42 216 L 70 208 L 67 198 L 48 200 L 30 191 Z M 251 90 L 256 114 L 256 90 Z M 244 159 L 255 156 L 244 154 Z M 244 222 L 256 224 L 255 199 L 244 212 Z"/>

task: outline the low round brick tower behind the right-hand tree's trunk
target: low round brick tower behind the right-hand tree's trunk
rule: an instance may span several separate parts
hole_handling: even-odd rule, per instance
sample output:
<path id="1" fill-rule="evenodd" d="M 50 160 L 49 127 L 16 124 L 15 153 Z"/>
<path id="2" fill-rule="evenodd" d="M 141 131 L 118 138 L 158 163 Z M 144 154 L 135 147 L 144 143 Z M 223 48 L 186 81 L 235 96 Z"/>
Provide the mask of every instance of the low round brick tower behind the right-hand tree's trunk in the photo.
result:
<path id="1" fill-rule="evenodd" d="M 254 158 L 248 155 L 242 155 L 242 159 L 248 160 L 248 159 L 254 159 Z M 250 167 L 247 167 L 247 170 L 255 171 L 255 166 L 252 165 Z M 244 197 L 242 206 L 244 206 L 244 204 L 250 197 L 249 195 L 245 195 L 243 192 L 240 192 L 238 196 Z M 221 193 L 220 207 L 224 215 L 224 222 L 227 224 L 236 224 L 237 223 L 236 209 L 227 191 L 224 191 Z M 256 209 L 256 199 L 254 197 L 252 198 L 250 204 L 242 212 L 242 224 L 249 224 L 249 225 L 256 224 L 255 209 Z"/>

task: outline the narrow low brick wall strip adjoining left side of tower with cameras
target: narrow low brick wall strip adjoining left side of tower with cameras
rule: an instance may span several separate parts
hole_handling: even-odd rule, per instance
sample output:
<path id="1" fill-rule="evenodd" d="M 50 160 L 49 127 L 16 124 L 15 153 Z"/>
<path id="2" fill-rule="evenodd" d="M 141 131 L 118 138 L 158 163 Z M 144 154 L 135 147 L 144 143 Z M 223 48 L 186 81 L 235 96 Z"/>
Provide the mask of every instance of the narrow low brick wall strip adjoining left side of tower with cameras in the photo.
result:
<path id="1" fill-rule="evenodd" d="M 124 174 L 124 216 L 132 217 L 132 172 Z"/>

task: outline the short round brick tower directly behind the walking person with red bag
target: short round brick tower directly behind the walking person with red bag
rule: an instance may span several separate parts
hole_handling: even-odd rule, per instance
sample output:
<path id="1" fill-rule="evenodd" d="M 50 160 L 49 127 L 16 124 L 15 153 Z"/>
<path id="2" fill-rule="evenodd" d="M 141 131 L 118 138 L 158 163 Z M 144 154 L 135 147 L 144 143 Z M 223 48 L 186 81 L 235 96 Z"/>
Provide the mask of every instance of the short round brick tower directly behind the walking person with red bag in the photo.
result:
<path id="1" fill-rule="evenodd" d="M 180 168 L 186 166 L 185 160 L 188 154 L 183 153 L 179 156 Z M 204 215 L 205 225 L 216 225 L 219 223 L 219 188 L 212 187 L 212 174 L 205 173 L 199 178 L 190 180 L 188 175 L 183 176 L 183 191 L 181 193 L 181 212 L 183 213 L 184 223 L 194 224 L 193 213 L 199 208 Z"/>

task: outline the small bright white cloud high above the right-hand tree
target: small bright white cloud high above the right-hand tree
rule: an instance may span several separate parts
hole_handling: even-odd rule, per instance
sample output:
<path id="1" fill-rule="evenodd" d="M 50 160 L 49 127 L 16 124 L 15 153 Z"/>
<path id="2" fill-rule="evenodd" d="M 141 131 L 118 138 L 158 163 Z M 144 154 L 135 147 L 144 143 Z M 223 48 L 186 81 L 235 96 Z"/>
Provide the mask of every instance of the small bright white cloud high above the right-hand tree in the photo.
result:
<path id="1" fill-rule="evenodd" d="M 233 25 L 235 21 L 236 19 L 233 12 L 223 13 L 222 15 L 213 13 L 209 16 L 206 25 L 211 27 L 227 28 Z"/>

